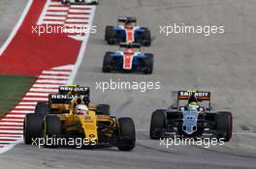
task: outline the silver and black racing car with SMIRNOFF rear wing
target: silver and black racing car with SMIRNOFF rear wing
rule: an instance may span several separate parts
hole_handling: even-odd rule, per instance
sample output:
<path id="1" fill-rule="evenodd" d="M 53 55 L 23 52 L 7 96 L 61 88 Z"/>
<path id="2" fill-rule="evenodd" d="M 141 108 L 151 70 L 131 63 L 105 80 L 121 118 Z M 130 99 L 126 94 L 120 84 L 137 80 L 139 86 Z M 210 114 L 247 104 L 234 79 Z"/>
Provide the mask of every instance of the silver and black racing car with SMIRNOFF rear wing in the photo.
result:
<path id="1" fill-rule="evenodd" d="M 212 110 L 209 92 L 178 91 L 176 105 L 152 113 L 150 138 L 214 137 L 229 141 L 232 126 L 230 112 Z"/>

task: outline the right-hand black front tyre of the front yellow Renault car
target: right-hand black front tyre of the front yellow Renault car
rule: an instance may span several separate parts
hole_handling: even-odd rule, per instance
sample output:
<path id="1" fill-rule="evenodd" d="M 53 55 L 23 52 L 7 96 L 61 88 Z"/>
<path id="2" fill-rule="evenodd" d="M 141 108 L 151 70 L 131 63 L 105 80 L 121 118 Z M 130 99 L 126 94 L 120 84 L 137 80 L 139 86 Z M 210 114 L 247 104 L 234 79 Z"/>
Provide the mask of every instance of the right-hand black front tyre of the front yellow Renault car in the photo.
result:
<path id="1" fill-rule="evenodd" d="M 131 118 L 118 119 L 120 142 L 118 149 L 120 151 L 131 151 L 135 148 L 136 136 L 135 125 Z"/>

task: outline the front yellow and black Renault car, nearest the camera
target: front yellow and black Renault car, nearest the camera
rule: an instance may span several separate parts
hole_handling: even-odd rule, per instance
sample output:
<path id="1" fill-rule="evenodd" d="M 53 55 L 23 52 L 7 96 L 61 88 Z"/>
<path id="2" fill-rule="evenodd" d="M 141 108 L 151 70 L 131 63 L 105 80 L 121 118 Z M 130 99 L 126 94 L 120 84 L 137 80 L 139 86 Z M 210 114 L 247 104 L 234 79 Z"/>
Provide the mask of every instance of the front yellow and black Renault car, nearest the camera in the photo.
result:
<path id="1" fill-rule="evenodd" d="M 85 105 L 83 97 L 49 95 L 47 114 L 35 112 L 25 116 L 23 126 L 25 144 L 32 144 L 39 139 L 42 141 L 44 138 L 45 147 L 116 146 L 120 151 L 134 149 L 136 138 L 133 120 L 131 118 L 117 120 L 110 115 L 97 115 L 97 106 L 88 106 L 86 115 L 77 114 L 77 106 Z"/>

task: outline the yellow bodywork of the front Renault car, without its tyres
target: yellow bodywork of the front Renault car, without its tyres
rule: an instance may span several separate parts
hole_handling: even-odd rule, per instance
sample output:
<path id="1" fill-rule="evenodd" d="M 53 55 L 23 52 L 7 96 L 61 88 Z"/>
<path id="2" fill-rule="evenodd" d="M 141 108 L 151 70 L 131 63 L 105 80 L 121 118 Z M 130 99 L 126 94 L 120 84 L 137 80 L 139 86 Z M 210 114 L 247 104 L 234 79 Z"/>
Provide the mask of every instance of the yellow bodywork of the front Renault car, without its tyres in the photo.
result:
<path id="1" fill-rule="evenodd" d="M 96 115 L 96 105 L 88 105 L 88 115 L 74 114 L 77 100 L 73 99 L 70 103 L 52 103 L 51 108 L 58 109 L 55 113 L 63 124 L 64 132 L 76 132 L 81 136 L 98 143 L 99 137 L 112 137 L 111 127 L 116 127 L 115 119 L 108 115 Z M 98 128 L 98 124 L 104 124 L 106 127 Z"/>

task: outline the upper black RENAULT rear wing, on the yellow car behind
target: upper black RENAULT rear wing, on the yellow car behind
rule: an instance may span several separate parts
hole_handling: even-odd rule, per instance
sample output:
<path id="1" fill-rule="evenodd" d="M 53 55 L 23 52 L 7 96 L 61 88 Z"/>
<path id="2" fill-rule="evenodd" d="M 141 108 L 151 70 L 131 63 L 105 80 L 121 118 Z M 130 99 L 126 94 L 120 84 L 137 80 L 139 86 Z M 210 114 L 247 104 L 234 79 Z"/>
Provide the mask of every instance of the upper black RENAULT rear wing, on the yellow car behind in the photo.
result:
<path id="1" fill-rule="evenodd" d="M 79 96 L 90 96 L 89 87 L 79 87 L 79 86 L 59 86 L 58 93 L 60 95 L 67 95 L 72 90 L 76 91 Z"/>

